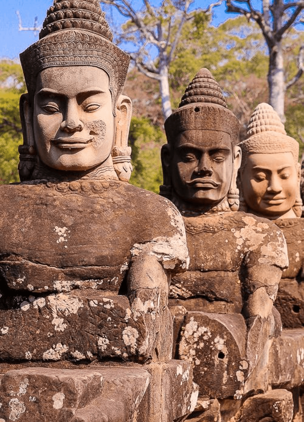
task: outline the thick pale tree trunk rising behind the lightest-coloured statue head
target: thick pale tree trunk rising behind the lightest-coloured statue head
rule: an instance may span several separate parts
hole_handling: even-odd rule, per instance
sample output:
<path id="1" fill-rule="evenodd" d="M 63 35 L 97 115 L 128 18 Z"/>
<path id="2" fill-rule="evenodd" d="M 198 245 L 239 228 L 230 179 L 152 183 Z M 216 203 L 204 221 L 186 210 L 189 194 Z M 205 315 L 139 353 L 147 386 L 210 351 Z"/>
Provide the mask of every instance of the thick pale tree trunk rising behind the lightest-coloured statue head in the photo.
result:
<path id="1" fill-rule="evenodd" d="M 277 43 L 269 51 L 269 104 L 274 108 L 280 119 L 285 123 L 284 100 L 285 100 L 285 78 L 283 68 L 283 52 L 281 43 Z"/>

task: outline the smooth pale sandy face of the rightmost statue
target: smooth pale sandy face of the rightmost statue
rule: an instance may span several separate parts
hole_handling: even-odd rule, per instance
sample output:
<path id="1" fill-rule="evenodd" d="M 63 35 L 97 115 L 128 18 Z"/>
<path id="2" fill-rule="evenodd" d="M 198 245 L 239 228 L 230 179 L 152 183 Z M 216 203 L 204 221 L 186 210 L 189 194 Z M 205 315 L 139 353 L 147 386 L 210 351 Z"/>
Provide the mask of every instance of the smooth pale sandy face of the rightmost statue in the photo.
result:
<path id="1" fill-rule="evenodd" d="M 298 172 L 291 152 L 250 154 L 241 173 L 243 195 L 257 214 L 275 219 L 295 217 Z"/>

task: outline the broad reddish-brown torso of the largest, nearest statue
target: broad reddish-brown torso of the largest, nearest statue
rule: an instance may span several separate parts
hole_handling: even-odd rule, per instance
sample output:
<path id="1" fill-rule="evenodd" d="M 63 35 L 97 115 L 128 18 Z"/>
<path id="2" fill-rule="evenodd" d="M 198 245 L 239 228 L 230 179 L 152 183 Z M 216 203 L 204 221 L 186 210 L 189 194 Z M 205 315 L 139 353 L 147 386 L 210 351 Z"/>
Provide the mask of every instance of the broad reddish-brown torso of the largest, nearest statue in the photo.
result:
<path id="1" fill-rule="evenodd" d="M 0 271 L 13 290 L 117 293 L 132 246 L 176 230 L 169 201 L 121 181 L 4 185 L 0 197 Z"/>

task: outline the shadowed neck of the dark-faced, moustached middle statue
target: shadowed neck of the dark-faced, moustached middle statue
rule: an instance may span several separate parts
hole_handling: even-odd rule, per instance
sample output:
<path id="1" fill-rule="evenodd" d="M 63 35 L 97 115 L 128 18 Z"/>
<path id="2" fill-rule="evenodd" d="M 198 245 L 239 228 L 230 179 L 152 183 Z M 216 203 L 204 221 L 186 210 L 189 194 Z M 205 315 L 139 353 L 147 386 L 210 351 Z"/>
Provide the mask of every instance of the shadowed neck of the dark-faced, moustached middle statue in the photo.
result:
<path id="1" fill-rule="evenodd" d="M 185 202 L 175 194 L 172 195 L 171 201 L 178 208 L 180 214 L 185 217 L 199 215 L 208 216 L 231 212 L 227 197 L 224 197 L 219 203 L 211 204 L 209 206 L 200 206 L 199 204 Z"/>

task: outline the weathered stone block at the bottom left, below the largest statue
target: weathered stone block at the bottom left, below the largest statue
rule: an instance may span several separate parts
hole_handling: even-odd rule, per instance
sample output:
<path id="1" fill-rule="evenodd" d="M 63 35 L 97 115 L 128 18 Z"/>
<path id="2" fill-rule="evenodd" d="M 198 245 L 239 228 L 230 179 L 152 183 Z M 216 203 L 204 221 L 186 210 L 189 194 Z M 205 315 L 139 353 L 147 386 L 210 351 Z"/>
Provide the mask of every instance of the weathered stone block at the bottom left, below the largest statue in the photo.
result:
<path id="1" fill-rule="evenodd" d="M 136 420 L 150 378 L 142 368 L 9 371 L 1 380 L 0 418 L 7 422 L 131 422 Z"/>

